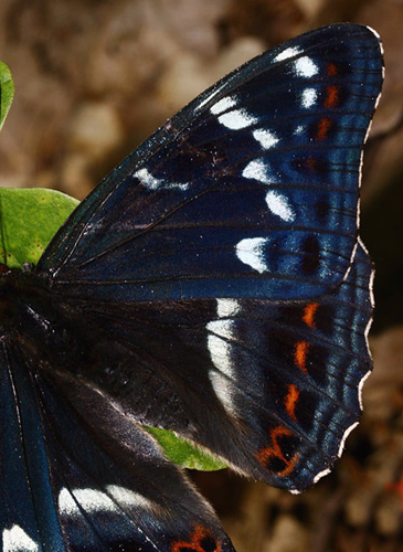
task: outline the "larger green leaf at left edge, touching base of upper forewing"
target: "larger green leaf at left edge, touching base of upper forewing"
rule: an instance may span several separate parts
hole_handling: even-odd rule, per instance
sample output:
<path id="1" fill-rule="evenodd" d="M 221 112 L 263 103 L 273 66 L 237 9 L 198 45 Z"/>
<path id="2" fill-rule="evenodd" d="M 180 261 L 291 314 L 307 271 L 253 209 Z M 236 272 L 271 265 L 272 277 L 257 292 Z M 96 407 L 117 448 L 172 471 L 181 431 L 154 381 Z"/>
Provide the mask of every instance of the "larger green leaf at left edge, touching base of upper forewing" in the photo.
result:
<path id="1" fill-rule="evenodd" d="M 10 268 L 35 265 L 77 204 L 54 190 L 0 188 L 0 263 Z"/>

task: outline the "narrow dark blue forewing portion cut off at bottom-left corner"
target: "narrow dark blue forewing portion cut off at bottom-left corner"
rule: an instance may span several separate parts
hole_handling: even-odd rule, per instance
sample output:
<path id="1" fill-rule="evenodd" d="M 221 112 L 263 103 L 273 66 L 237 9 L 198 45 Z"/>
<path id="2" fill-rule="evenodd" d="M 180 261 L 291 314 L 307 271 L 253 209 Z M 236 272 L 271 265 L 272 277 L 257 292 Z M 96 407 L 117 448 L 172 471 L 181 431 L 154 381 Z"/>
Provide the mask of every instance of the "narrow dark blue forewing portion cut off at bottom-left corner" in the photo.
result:
<path id="1" fill-rule="evenodd" d="M 0 404 L 2 431 L 0 438 L 0 527 L 1 550 L 63 550 L 57 517 L 51 505 L 46 452 L 39 417 L 36 397 L 28 381 L 20 382 L 20 358 L 11 358 L 1 341 Z M 23 425 L 21 421 L 23 420 Z M 46 550 L 46 549 L 45 549 Z"/>

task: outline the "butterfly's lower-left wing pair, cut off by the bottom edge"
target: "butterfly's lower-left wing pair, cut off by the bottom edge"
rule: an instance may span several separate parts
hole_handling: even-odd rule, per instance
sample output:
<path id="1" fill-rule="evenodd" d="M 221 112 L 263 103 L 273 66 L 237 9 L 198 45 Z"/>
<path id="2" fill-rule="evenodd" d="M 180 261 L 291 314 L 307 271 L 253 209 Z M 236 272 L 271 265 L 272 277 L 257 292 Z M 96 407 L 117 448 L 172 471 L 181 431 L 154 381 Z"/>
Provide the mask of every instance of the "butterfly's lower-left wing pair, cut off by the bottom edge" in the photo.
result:
<path id="1" fill-rule="evenodd" d="M 91 412 L 79 420 L 20 351 L 3 342 L 0 361 L 1 550 L 233 551 L 182 473 L 110 403 L 91 408 L 94 393 L 76 384 Z"/>

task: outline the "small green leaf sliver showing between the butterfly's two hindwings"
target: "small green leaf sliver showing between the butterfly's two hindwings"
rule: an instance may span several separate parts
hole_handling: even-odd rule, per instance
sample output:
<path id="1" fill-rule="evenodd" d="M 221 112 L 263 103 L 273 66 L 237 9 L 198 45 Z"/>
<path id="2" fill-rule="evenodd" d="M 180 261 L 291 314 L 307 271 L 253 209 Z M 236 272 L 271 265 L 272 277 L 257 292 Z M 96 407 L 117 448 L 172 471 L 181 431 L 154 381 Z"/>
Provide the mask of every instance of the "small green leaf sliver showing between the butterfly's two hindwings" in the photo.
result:
<path id="1" fill-rule="evenodd" d="M 226 468 L 220 458 L 197 448 L 190 440 L 178 437 L 173 432 L 148 426 L 144 426 L 144 428 L 156 437 L 167 457 L 183 468 L 199 469 L 200 471 Z"/>

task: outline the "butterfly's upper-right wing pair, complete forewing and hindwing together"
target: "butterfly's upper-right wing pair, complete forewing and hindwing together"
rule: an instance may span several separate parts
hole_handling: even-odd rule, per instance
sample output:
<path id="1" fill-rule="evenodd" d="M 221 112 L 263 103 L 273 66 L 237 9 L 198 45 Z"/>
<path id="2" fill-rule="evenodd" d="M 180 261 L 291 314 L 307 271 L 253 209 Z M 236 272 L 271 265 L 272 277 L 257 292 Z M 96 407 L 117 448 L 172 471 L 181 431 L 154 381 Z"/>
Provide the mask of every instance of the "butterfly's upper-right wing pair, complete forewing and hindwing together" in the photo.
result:
<path id="1" fill-rule="evenodd" d="M 38 267 L 110 355 L 83 382 L 276 485 L 306 488 L 333 464 L 370 365 L 357 212 L 381 82 L 367 28 L 297 38 L 204 93 L 83 202 Z M 346 295 L 361 317 L 351 342 Z M 232 301 L 234 328 L 220 314 Z M 329 337 L 300 322 L 312 305 Z M 243 407 L 231 386 L 248 381 Z"/>

